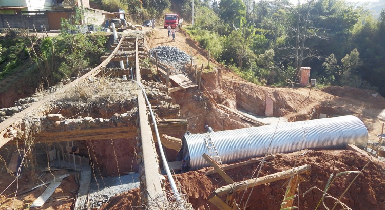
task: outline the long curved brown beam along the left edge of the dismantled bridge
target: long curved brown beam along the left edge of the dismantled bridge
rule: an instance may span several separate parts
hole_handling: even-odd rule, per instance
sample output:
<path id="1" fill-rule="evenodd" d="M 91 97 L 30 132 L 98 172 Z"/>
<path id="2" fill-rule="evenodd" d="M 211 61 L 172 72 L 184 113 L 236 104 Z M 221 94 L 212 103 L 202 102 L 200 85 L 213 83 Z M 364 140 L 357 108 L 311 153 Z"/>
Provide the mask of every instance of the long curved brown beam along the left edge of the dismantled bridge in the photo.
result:
<path id="1" fill-rule="evenodd" d="M 15 115 L 13 115 L 12 117 L 10 117 L 10 118 L 4 120 L 3 122 L 1 122 L 0 123 L 0 148 L 3 145 L 5 145 L 6 143 L 8 143 L 8 141 L 10 141 L 10 140 L 12 140 L 14 138 L 14 137 L 10 137 L 9 136 L 9 132 L 8 132 L 8 130 L 10 129 L 11 125 L 13 125 L 14 127 L 17 127 L 18 124 L 22 121 L 22 119 L 28 113 L 31 113 L 33 111 L 38 110 L 41 106 L 43 106 L 43 104 L 45 104 L 45 103 L 49 102 L 50 100 L 56 98 L 57 94 L 62 94 L 66 90 L 73 89 L 76 85 L 78 85 L 78 83 L 80 83 L 84 79 L 88 78 L 91 75 L 97 74 L 100 71 L 101 67 L 105 67 L 109 63 L 109 61 L 112 59 L 113 54 L 118 51 L 118 46 L 122 43 L 123 37 L 124 36 L 122 36 L 122 38 L 120 39 L 120 41 L 119 41 L 117 47 L 115 48 L 115 50 L 107 57 L 106 60 L 104 60 L 97 67 L 93 68 L 91 71 L 89 71 L 88 73 L 84 74 L 79 79 L 76 79 L 75 81 L 73 81 L 73 82 L 69 83 L 68 85 L 64 86 L 61 89 L 61 91 L 56 91 L 55 93 L 52 93 L 52 94 L 49 94 L 48 96 L 45 96 L 41 100 L 33 103 L 30 107 L 27 107 L 25 110 L 15 114 Z"/>

